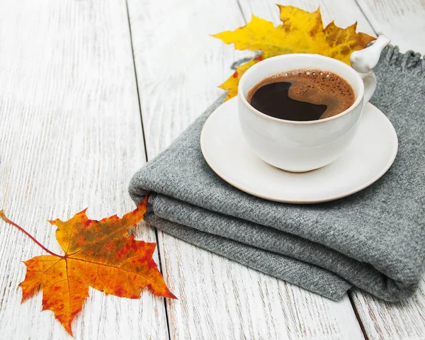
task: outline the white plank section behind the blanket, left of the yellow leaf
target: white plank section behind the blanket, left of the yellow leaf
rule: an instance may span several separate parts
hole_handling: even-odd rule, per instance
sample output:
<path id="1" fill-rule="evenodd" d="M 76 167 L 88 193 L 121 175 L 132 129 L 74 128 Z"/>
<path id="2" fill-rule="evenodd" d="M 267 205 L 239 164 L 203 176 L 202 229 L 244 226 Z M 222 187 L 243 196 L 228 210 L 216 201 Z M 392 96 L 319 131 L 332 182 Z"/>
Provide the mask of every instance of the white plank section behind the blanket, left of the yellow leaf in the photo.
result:
<path id="1" fill-rule="evenodd" d="M 234 51 L 209 34 L 244 24 L 235 1 L 128 0 L 148 158 L 224 93 Z"/>

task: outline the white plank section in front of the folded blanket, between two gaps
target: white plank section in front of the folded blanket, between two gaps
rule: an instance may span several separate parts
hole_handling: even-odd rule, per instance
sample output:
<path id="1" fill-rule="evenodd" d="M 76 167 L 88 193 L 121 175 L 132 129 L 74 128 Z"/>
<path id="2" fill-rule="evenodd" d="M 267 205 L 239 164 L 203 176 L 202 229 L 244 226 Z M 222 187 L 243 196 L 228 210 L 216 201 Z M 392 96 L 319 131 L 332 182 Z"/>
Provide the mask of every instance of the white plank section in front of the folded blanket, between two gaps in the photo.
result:
<path id="1" fill-rule="evenodd" d="M 161 233 L 171 339 L 363 339 L 334 302 Z"/>

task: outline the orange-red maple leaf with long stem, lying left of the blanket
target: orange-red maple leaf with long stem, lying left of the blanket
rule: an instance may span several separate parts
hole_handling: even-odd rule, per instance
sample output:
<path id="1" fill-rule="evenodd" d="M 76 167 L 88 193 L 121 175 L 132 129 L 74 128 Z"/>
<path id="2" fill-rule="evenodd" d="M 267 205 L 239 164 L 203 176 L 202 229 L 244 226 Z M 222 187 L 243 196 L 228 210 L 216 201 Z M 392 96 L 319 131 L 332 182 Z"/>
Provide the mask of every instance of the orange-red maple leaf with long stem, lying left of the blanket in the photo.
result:
<path id="1" fill-rule="evenodd" d="M 20 283 L 22 302 L 42 285 L 42 310 L 52 310 L 72 335 L 72 320 L 89 297 L 89 287 L 130 299 L 139 298 L 141 288 L 147 287 L 154 295 L 175 299 L 152 259 L 156 244 L 128 236 L 128 228 L 143 219 L 146 203 L 147 197 L 122 218 L 113 215 L 100 221 L 89 220 L 83 210 L 65 222 L 49 221 L 57 226 L 56 238 L 64 255 L 46 249 L 1 210 L 3 220 L 50 253 L 24 262 L 27 272 Z"/>

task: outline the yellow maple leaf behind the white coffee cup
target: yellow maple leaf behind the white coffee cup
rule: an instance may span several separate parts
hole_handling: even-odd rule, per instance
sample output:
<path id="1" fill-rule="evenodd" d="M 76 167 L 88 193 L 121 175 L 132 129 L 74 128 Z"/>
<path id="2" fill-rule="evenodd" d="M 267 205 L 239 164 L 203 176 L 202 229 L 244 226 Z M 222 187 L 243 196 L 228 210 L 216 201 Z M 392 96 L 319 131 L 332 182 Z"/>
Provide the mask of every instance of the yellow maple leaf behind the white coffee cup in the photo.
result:
<path id="1" fill-rule="evenodd" d="M 278 7 L 282 25 L 275 27 L 270 21 L 252 16 L 247 25 L 237 30 L 212 35 L 226 44 L 233 43 L 237 50 L 263 51 L 260 57 L 237 67 L 237 71 L 219 86 L 229 90 L 226 100 L 237 95 L 240 77 L 260 58 L 262 60 L 288 53 L 315 53 L 349 64 L 351 52 L 365 48 L 376 39 L 365 33 L 356 33 L 357 23 L 339 28 L 332 21 L 324 28 L 320 8 L 308 12 L 294 6 Z"/>

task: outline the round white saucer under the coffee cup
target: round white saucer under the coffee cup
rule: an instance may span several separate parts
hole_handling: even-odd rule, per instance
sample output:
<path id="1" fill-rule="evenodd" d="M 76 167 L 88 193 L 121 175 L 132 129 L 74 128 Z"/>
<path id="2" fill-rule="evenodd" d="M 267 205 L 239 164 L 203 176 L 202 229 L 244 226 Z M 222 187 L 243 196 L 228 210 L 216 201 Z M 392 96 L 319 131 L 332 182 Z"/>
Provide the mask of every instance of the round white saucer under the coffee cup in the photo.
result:
<path id="1" fill-rule="evenodd" d="M 246 193 L 285 203 L 319 203 L 351 195 L 370 186 L 390 168 L 397 135 L 390 120 L 368 103 L 350 147 L 335 162 L 293 174 L 263 162 L 242 136 L 237 98 L 217 108 L 205 122 L 200 148 L 211 169 Z"/>

